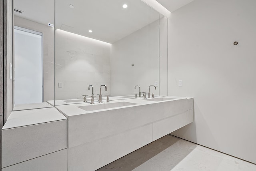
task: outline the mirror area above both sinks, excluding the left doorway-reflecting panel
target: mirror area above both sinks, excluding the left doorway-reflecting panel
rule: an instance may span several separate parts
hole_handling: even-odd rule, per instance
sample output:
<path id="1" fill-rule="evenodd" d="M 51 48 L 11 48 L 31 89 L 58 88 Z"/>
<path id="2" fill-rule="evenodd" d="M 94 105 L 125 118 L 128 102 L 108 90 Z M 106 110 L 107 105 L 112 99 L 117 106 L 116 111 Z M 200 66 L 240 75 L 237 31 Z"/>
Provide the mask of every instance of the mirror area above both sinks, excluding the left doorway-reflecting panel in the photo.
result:
<path id="1" fill-rule="evenodd" d="M 135 85 L 167 95 L 167 19 L 141 0 L 55 0 L 55 105 L 102 84 L 102 101 L 133 98 Z"/>

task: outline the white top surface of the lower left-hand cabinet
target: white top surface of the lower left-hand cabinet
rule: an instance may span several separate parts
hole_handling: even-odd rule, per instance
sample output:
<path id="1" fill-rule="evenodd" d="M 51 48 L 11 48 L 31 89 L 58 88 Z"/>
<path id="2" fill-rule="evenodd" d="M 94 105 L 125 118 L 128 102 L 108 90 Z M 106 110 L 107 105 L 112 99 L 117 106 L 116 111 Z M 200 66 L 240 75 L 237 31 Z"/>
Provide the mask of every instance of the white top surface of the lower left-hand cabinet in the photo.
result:
<path id="1" fill-rule="evenodd" d="M 59 121 L 63 119 L 67 118 L 54 107 L 12 111 L 2 129 Z"/>

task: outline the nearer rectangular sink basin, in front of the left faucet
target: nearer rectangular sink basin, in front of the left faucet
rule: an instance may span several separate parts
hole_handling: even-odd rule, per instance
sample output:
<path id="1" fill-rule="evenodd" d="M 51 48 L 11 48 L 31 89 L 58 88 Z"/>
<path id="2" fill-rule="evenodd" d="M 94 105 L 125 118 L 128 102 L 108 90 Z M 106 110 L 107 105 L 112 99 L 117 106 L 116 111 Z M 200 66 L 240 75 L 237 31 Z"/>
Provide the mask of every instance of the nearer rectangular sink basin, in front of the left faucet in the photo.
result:
<path id="1" fill-rule="evenodd" d="M 80 109 L 86 110 L 86 111 L 92 111 L 92 110 L 100 110 L 100 109 L 110 109 L 114 107 L 123 107 L 128 105 L 137 105 L 137 103 L 130 103 L 130 102 L 117 102 L 117 103 L 102 103 L 97 105 L 86 105 L 86 106 L 79 106 Z"/>

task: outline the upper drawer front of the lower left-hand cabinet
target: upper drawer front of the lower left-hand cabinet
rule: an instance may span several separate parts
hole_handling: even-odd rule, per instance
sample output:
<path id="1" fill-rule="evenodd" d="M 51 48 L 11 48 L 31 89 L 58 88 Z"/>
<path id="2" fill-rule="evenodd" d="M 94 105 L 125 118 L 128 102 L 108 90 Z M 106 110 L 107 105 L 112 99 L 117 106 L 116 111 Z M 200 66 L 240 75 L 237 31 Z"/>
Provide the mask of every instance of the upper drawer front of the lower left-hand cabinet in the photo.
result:
<path id="1" fill-rule="evenodd" d="M 68 120 L 2 130 L 2 167 L 68 148 Z"/>

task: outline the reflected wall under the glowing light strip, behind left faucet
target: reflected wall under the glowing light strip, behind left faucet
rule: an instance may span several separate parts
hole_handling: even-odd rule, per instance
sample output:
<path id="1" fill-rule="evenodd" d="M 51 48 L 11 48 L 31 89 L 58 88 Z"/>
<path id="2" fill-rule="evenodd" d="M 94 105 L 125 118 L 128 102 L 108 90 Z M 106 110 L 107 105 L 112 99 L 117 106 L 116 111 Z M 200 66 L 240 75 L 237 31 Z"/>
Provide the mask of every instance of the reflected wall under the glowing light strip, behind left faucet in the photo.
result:
<path id="1" fill-rule="evenodd" d="M 55 99 L 78 99 L 91 95 L 110 94 L 111 44 L 57 29 L 55 32 Z M 62 83 L 62 87 L 58 86 Z M 96 95 L 97 96 L 97 95 Z"/>

